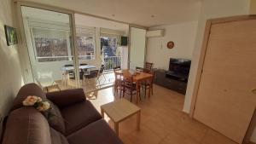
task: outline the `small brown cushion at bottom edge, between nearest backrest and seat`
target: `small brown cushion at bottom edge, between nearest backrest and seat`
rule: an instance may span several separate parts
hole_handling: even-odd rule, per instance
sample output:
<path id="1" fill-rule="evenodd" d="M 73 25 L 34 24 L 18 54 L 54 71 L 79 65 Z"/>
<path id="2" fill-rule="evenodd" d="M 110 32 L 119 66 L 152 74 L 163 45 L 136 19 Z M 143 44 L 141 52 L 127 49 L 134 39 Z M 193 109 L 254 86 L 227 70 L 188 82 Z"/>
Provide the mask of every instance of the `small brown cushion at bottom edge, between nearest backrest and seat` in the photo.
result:
<path id="1" fill-rule="evenodd" d="M 49 128 L 51 144 L 68 144 L 67 138 L 60 132 Z"/>

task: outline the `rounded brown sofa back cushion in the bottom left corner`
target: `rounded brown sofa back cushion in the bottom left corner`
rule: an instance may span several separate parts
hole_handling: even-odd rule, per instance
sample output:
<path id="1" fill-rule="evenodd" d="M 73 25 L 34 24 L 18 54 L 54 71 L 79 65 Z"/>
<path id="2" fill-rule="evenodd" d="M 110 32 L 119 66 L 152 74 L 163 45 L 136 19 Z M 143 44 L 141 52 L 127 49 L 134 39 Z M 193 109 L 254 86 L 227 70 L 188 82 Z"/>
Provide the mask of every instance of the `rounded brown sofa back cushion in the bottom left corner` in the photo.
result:
<path id="1" fill-rule="evenodd" d="M 49 124 L 34 107 L 21 107 L 9 114 L 3 144 L 49 144 Z"/>

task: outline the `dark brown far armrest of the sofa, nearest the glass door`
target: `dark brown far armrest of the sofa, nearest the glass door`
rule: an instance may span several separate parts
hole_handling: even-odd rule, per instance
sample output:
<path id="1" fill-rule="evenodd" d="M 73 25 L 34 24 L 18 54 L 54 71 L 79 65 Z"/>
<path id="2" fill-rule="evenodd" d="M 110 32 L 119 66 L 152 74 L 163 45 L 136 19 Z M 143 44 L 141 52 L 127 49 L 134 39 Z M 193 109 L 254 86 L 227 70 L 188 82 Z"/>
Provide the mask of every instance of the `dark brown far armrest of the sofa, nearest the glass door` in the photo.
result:
<path id="1" fill-rule="evenodd" d="M 86 101 L 83 89 L 67 89 L 46 93 L 47 99 L 58 107 L 67 107 L 78 102 Z"/>

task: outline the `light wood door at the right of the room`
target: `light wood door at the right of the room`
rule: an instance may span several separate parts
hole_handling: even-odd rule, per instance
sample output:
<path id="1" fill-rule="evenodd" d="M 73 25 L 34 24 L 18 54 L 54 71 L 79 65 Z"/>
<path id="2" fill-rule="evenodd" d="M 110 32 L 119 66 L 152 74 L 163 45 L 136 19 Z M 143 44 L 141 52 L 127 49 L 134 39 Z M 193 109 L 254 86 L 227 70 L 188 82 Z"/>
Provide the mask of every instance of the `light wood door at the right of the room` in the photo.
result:
<path id="1" fill-rule="evenodd" d="M 241 143 L 256 106 L 256 20 L 219 20 L 209 31 L 194 118 Z"/>

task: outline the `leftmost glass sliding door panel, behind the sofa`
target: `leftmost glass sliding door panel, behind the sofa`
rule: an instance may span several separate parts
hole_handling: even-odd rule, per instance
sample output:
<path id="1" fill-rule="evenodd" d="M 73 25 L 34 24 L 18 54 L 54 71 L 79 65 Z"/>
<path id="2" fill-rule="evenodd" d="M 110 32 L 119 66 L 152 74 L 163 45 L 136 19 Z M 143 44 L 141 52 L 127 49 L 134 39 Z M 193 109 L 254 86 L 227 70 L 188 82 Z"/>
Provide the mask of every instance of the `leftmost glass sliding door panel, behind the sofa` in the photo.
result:
<path id="1" fill-rule="evenodd" d="M 45 91 L 77 88 L 71 14 L 26 6 L 21 14 L 34 82 Z"/>

